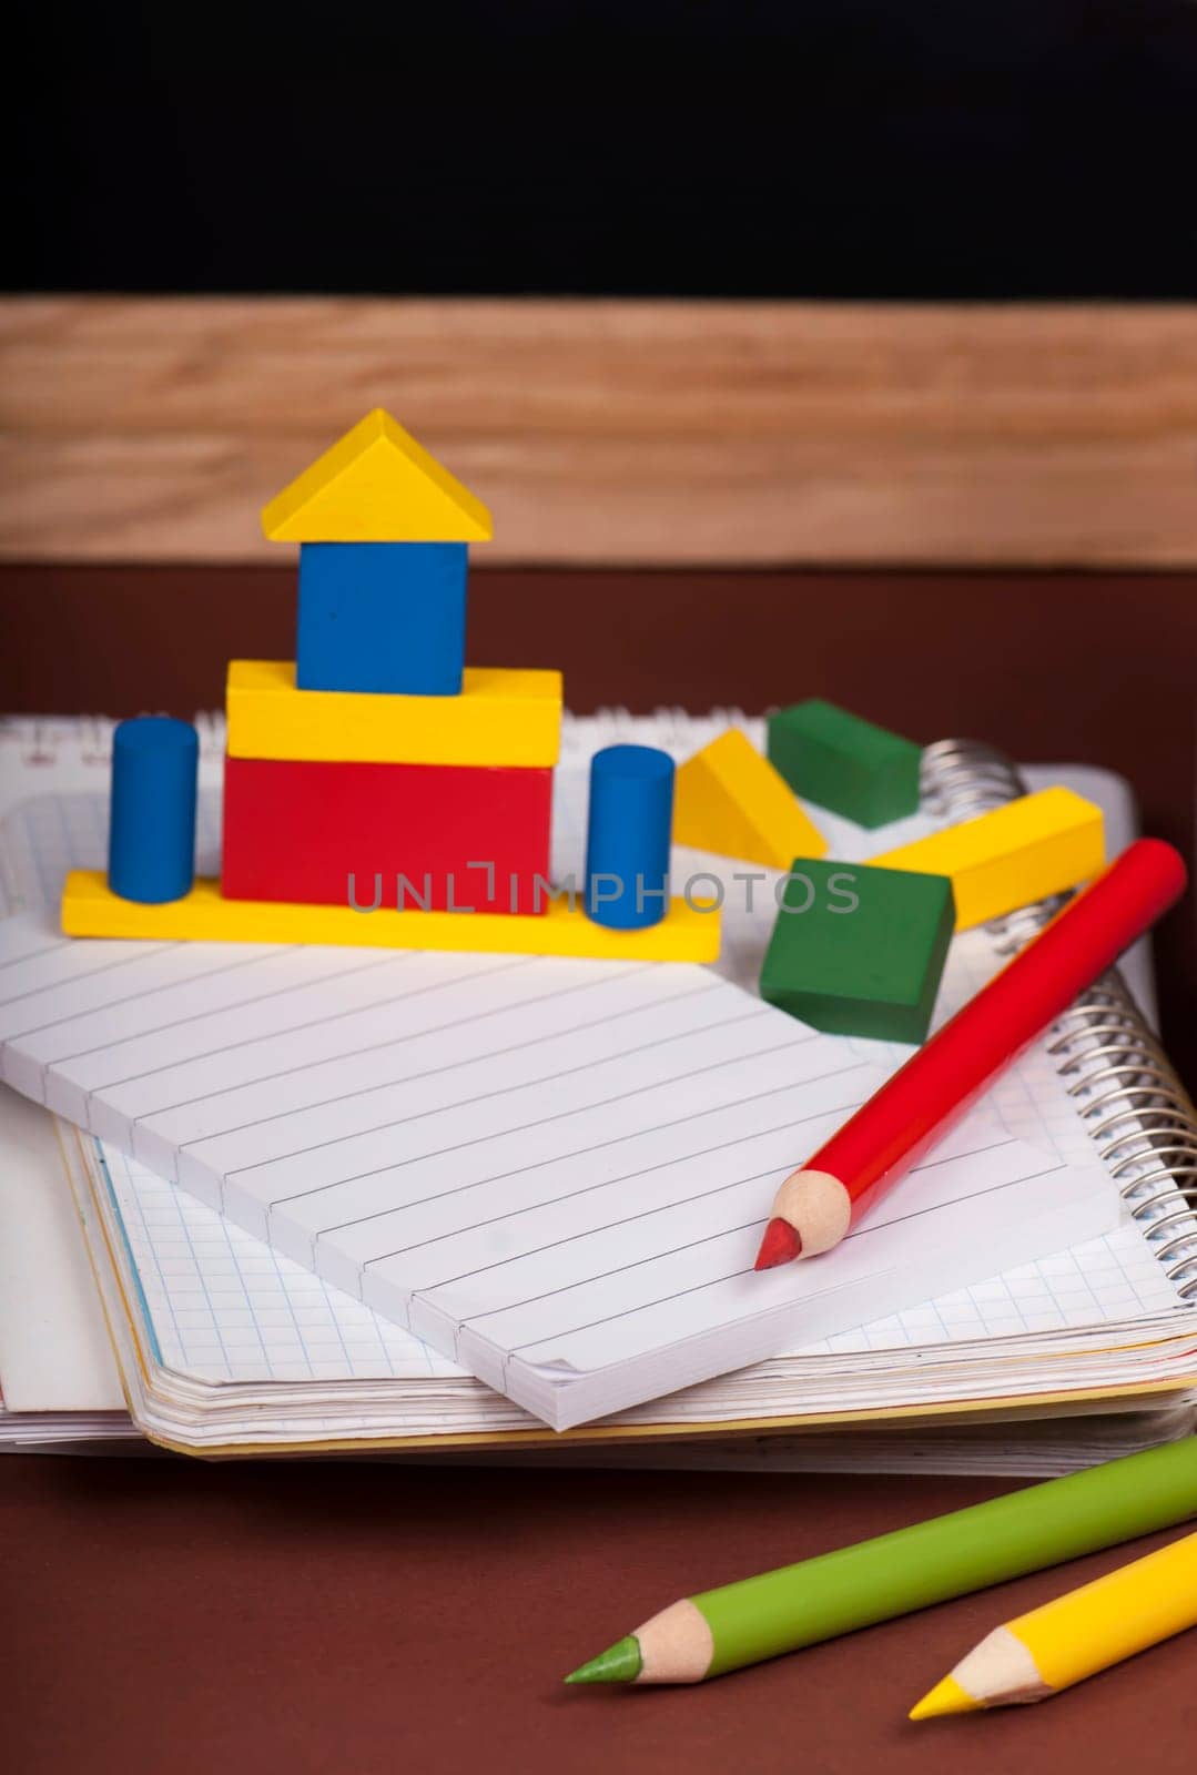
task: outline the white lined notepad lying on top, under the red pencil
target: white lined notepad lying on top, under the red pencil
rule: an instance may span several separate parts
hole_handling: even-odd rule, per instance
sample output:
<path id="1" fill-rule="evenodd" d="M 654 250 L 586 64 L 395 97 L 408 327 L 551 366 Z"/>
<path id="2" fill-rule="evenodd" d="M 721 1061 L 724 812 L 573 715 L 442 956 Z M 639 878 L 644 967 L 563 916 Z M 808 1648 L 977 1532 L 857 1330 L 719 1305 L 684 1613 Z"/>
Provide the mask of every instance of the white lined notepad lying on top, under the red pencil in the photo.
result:
<path id="1" fill-rule="evenodd" d="M 1106 1230 L 982 1111 L 835 1260 L 751 1260 L 881 1081 L 700 967 L 0 928 L 7 1083 L 556 1427 Z"/>

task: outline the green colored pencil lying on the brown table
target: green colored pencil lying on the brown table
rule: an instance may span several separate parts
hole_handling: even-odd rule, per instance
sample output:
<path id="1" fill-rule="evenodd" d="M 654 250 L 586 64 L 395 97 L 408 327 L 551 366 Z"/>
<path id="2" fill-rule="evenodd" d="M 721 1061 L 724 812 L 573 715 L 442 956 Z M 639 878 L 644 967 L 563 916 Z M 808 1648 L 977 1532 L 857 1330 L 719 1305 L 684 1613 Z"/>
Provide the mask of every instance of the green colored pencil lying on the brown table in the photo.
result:
<path id="1" fill-rule="evenodd" d="M 1197 1436 L 671 1603 L 567 1683 L 702 1683 L 1197 1516 Z"/>

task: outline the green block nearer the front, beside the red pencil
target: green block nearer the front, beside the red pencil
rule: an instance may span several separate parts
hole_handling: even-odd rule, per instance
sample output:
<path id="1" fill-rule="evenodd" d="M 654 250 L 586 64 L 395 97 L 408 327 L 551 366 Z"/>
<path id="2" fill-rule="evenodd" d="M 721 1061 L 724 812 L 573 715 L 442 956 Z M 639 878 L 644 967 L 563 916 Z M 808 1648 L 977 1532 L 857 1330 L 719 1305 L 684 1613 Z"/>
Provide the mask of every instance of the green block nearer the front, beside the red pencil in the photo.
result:
<path id="1" fill-rule="evenodd" d="M 947 875 L 799 857 L 760 996 L 829 1035 L 922 1042 L 954 928 Z"/>

